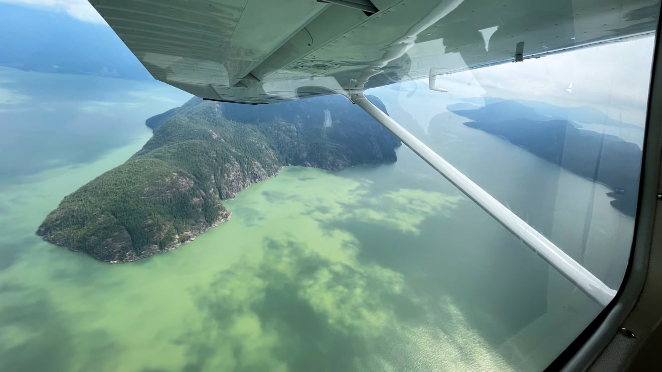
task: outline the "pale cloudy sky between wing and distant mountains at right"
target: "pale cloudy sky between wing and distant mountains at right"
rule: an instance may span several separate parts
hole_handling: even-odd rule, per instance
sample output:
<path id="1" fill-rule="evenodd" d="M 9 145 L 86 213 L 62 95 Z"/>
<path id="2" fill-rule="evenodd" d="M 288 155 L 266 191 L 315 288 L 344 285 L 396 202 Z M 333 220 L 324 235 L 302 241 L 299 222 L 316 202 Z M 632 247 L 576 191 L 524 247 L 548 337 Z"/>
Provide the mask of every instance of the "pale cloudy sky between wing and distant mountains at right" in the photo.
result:
<path id="1" fill-rule="evenodd" d="M 654 43 L 653 36 L 643 36 L 438 76 L 436 87 L 448 93 L 428 89 L 427 78 L 400 83 L 398 87 L 370 89 L 369 93 L 397 101 L 423 128 L 434 116 L 446 111 L 446 105 L 470 97 L 524 99 L 560 107 L 589 106 L 616 120 L 643 127 Z"/>

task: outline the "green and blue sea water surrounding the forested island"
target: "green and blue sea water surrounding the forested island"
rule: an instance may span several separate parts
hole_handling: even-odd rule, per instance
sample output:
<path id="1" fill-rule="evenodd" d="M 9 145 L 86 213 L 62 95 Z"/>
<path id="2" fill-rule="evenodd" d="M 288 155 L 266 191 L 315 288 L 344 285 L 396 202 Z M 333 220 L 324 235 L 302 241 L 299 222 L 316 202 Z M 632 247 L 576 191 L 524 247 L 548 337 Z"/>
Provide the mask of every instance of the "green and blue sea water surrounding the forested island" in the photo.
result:
<path id="1" fill-rule="evenodd" d="M 0 108 L 28 105 L 11 97 L 33 97 L 21 79 L 42 77 L 4 73 L 25 88 Z M 83 87 L 89 81 L 77 79 L 95 78 L 49 79 Z M 99 89 L 106 80 L 95 80 Z M 186 98 L 160 85 L 108 84 L 119 86 L 102 107 L 126 103 L 131 91 L 143 107 L 116 107 L 107 122 L 85 127 L 117 142 L 77 148 L 84 141 L 62 114 L 44 122 L 64 128 L 54 132 L 80 157 L 35 146 L 0 160 L 0 169 L 32 169 L 7 170 L 0 188 L 0 370 L 532 371 L 600 310 L 404 147 L 396 163 L 286 167 L 226 201 L 229 222 L 135 263 L 109 265 L 43 242 L 34 231 L 62 197 L 139 150 L 148 111 Z M 71 112 L 83 115 L 73 103 L 89 96 L 72 93 Z M 155 96 L 176 103 L 154 107 Z M 386 104 L 416 130 L 414 114 Z M 618 286 L 634 222 L 608 205 L 606 188 L 461 118 L 429 116 L 430 146 Z M 0 124 L 7 117 L 0 112 Z M 4 130 L 48 139 L 24 126 Z M 62 160 L 44 165 L 51 154 Z"/>

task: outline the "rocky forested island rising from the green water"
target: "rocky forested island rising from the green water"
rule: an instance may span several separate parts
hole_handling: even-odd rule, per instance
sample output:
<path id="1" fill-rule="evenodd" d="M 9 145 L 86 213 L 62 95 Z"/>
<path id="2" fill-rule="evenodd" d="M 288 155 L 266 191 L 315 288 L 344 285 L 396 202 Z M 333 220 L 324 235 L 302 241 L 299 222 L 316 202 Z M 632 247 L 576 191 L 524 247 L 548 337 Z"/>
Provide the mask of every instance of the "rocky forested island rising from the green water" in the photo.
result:
<path id="1" fill-rule="evenodd" d="M 102 261 L 136 261 L 228 220 L 223 200 L 285 165 L 395 162 L 401 145 L 340 95 L 260 106 L 195 97 L 146 124 L 154 136 L 142 150 L 65 197 L 38 235 Z"/>

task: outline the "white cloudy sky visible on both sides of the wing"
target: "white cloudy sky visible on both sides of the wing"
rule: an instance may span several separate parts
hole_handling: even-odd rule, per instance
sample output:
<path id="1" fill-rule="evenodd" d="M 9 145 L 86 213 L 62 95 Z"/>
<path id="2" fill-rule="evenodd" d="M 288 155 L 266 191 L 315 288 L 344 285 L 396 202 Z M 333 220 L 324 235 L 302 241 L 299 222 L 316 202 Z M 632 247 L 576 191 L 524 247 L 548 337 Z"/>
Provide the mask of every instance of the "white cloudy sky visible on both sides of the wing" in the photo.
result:
<path id="1" fill-rule="evenodd" d="M 0 3 L 38 7 L 67 13 L 79 21 L 105 24 L 86 0 L 0 0 Z M 653 44 L 653 36 L 647 36 L 517 64 L 444 75 L 437 81 L 438 86 L 449 89 L 455 97 L 491 96 L 545 101 L 559 106 L 591 105 L 612 118 L 643 125 Z M 427 89 L 426 85 L 424 79 L 402 83 L 402 89 Z"/>

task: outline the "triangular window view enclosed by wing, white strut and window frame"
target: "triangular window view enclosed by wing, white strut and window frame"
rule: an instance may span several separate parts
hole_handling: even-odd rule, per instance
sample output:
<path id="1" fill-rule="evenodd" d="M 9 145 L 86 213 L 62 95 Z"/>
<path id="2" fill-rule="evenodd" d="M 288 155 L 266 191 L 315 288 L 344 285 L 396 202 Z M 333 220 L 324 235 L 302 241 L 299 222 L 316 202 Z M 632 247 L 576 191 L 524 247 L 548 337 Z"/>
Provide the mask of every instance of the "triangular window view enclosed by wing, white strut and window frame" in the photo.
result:
<path id="1" fill-rule="evenodd" d="M 653 36 L 373 89 L 391 115 L 611 288 L 634 232 Z M 637 66 L 624 68 L 624 66 Z"/>

